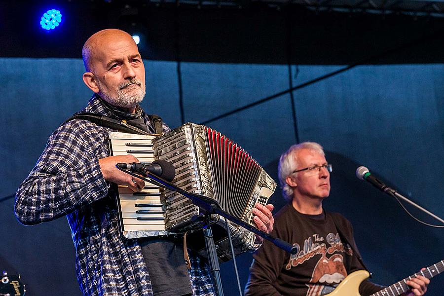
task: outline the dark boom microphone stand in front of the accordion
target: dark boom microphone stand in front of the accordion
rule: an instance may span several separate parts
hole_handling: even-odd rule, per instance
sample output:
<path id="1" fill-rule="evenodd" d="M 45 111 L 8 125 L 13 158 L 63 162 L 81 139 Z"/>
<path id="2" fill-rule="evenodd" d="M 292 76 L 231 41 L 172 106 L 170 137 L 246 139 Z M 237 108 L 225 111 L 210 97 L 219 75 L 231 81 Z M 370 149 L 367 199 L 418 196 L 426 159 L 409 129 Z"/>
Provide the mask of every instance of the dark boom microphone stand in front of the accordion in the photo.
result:
<path id="1" fill-rule="evenodd" d="M 210 274 L 212 276 L 214 290 L 215 290 L 215 293 L 217 296 L 223 296 L 223 291 L 222 291 L 221 269 L 219 266 L 218 254 L 217 254 L 216 245 L 215 245 L 214 239 L 213 239 L 213 232 L 210 227 L 210 221 L 211 221 L 212 214 L 218 214 L 218 215 L 224 217 L 225 219 L 228 219 L 229 221 L 234 222 L 234 223 L 244 227 L 245 229 L 247 229 L 247 230 L 259 235 L 260 237 L 272 242 L 274 245 L 276 245 L 277 247 L 281 248 L 284 251 L 287 251 L 288 253 L 291 253 L 294 255 L 297 252 L 296 247 L 292 246 L 288 242 L 283 241 L 280 238 L 276 238 L 266 232 L 263 232 L 263 231 L 259 230 L 258 228 L 253 227 L 252 225 L 228 214 L 227 212 L 222 210 L 222 207 L 219 205 L 219 203 L 212 198 L 209 198 L 209 197 L 206 197 L 203 195 L 199 195 L 199 194 L 186 192 L 182 188 L 180 188 L 180 187 L 178 187 L 166 180 L 163 180 L 162 178 L 155 176 L 154 174 L 151 174 L 149 172 L 146 172 L 145 176 L 151 180 L 148 180 L 148 179 L 143 178 L 139 175 L 128 172 L 127 170 L 124 170 L 124 169 L 119 168 L 117 166 L 116 166 L 116 168 L 125 172 L 125 173 L 128 173 L 134 177 L 137 177 L 137 178 L 140 178 L 144 181 L 152 183 L 154 185 L 161 186 L 161 187 L 171 190 L 171 191 L 179 192 L 180 194 L 189 198 L 194 205 L 198 206 L 203 211 L 203 213 L 204 213 L 204 220 L 203 220 L 204 231 L 203 231 L 203 233 L 204 233 L 204 238 L 205 238 L 205 247 L 206 247 L 206 251 L 208 254 L 208 264 L 210 266 Z M 154 181 L 154 183 L 152 182 L 152 180 Z M 232 254 L 232 256 L 234 257 L 234 254 Z"/>

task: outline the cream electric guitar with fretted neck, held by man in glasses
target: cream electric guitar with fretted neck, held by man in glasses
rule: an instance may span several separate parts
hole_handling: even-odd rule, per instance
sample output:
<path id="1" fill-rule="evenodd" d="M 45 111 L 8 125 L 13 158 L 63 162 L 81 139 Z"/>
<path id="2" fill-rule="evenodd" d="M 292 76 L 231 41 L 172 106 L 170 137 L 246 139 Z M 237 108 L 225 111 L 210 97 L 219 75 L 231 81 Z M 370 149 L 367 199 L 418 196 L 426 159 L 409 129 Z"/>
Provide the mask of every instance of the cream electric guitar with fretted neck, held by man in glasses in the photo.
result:
<path id="1" fill-rule="evenodd" d="M 407 292 L 410 288 L 406 282 L 412 278 L 422 275 L 428 279 L 440 274 L 444 271 L 444 260 L 439 261 L 418 273 L 412 274 L 409 277 L 395 283 L 379 292 L 376 292 L 370 296 L 399 296 L 404 292 Z M 361 283 L 368 279 L 370 273 L 367 270 L 358 270 L 350 273 L 334 291 L 325 296 L 361 296 L 359 294 L 359 286 Z"/>

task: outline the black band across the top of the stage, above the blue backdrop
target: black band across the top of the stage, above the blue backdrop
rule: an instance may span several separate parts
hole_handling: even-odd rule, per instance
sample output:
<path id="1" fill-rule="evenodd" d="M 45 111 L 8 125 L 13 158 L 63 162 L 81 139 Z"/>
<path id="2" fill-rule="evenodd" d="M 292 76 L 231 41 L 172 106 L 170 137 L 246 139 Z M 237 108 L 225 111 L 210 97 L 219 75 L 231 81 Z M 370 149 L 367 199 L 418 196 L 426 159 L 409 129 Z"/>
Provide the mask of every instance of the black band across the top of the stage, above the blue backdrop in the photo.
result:
<path id="1" fill-rule="evenodd" d="M 260 3 L 242 9 L 197 9 L 143 1 L 60 1 L 62 25 L 45 32 L 38 21 L 49 3 L 53 4 L 0 4 L 0 56 L 79 58 L 91 34 L 120 28 L 141 35 L 141 54 L 151 60 L 311 65 L 444 62 L 442 18 L 316 12 L 297 5 L 277 10 Z M 130 8 L 125 8 L 126 3 Z"/>

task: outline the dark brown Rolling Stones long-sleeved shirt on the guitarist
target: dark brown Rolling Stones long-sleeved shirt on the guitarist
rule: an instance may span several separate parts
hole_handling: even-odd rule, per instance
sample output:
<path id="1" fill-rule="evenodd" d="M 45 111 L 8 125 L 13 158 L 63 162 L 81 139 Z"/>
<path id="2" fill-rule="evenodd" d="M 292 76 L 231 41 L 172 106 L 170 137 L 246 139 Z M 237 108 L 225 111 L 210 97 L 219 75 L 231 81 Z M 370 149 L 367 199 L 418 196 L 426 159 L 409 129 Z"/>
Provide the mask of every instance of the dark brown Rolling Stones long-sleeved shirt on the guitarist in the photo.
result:
<path id="1" fill-rule="evenodd" d="M 272 234 L 296 246 L 297 253 L 291 255 L 265 241 L 253 256 L 245 296 L 326 295 L 349 273 L 365 269 L 341 241 L 336 225 L 357 250 L 352 226 L 341 215 L 325 211 L 304 215 L 291 204 L 284 206 L 276 214 Z M 365 281 L 360 293 L 370 295 L 381 288 Z"/>

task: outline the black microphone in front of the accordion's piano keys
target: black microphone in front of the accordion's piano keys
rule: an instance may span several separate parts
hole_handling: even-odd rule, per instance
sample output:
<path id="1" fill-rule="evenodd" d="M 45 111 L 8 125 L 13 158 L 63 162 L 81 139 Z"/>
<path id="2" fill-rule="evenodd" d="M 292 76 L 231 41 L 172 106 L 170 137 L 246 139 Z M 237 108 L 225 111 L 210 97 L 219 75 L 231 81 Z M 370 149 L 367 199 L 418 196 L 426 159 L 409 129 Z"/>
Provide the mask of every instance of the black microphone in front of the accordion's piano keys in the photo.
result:
<path id="1" fill-rule="evenodd" d="M 124 170 L 128 170 L 133 173 L 141 174 L 142 176 L 149 177 L 148 174 L 156 175 L 168 182 L 173 181 L 176 175 L 176 169 L 174 166 L 165 160 L 154 160 L 151 164 L 144 165 L 140 162 L 133 163 L 116 163 L 116 166 Z"/>

